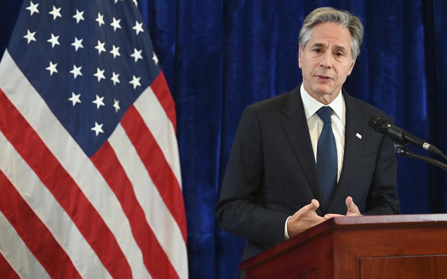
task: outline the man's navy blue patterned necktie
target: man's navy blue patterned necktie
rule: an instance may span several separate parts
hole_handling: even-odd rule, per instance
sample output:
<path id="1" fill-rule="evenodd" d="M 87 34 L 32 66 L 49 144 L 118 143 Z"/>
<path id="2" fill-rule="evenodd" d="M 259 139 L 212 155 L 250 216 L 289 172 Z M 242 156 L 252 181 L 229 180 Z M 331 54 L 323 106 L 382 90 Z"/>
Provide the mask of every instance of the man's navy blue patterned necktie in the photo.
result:
<path id="1" fill-rule="evenodd" d="M 332 132 L 331 107 L 321 107 L 317 111 L 323 120 L 317 145 L 317 175 L 325 209 L 328 210 L 332 193 L 337 184 L 337 147 Z"/>

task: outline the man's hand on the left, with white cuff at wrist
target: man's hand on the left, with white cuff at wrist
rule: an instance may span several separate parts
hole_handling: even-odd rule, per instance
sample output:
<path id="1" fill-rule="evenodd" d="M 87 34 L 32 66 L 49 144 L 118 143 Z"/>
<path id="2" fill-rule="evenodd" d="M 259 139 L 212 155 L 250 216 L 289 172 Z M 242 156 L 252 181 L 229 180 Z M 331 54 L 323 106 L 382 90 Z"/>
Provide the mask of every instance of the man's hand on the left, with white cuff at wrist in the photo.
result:
<path id="1" fill-rule="evenodd" d="M 315 210 L 320 206 L 316 199 L 312 199 L 310 204 L 303 206 L 287 220 L 287 234 L 289 237 L 295 236 L 314 225 L 324 222 L 324 218 L 317 215 Z"/>

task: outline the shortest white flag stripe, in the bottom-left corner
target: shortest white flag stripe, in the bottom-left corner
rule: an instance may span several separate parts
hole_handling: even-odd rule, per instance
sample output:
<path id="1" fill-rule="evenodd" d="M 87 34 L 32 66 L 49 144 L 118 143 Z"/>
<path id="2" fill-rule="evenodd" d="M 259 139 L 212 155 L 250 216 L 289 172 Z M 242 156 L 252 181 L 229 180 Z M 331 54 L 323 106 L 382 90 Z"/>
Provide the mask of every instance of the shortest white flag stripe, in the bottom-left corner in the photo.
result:
<path id="1" fill-rule="evenodd" d="M 0 232 L 0 252 L 17 275 L 21 278 L 50 278 L 1 211 Z"/>

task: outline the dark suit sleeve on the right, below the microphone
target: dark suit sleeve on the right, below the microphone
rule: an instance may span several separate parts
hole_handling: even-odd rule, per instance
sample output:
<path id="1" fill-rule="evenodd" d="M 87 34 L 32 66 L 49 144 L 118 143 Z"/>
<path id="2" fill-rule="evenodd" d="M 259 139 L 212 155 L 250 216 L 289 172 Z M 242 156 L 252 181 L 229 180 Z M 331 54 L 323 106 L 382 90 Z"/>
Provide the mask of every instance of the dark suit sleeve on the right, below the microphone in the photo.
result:
<path id="1" fill-rule="evenodd" d="M 390 117 L 392 122 L 392 118 Z M 364 215 L 400 214 L 397 196 L 397 160 L 392 140 L 384 135 L 378 151 L 376 167 L 366 198 Z"/>

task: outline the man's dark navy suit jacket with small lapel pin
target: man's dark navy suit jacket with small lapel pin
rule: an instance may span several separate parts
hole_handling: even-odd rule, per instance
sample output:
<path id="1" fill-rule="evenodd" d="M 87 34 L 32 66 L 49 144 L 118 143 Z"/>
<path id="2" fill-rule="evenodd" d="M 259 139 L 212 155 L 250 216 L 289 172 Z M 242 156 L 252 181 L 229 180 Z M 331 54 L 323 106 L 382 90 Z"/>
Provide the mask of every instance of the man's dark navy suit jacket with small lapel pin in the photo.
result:
<path id="1" fill-rule="evenodd" d="M 393 143 L 368 126 L 371 115 L 386 114 L 344 89 L 342 94 L 346 106 L 343 167 L 329 207 L 320 202 L 316 212 L 344 215 L 345 199 L 352 196 L 364 215 L 399 214 Z M 216 216 L 223 229 L 247 239 L 246 259 L 283 241 L 287 217 L 312 198 L 322 200 L 298 86 L 244 110 Z"/>

